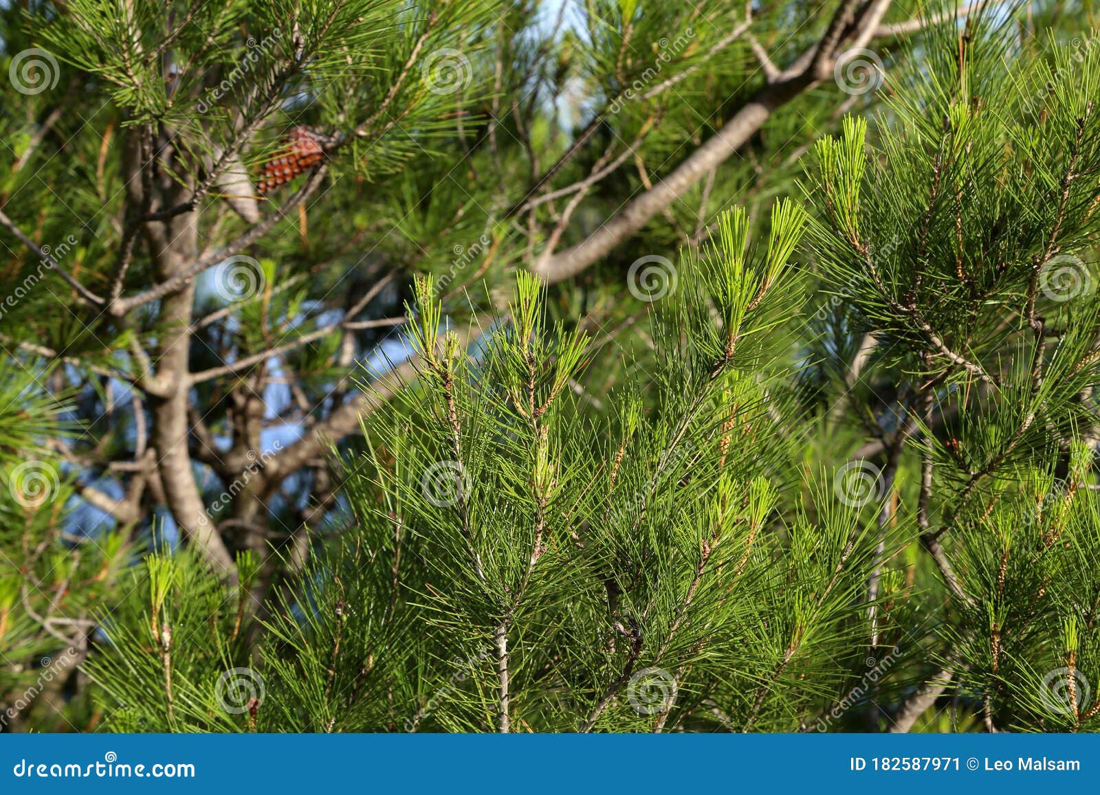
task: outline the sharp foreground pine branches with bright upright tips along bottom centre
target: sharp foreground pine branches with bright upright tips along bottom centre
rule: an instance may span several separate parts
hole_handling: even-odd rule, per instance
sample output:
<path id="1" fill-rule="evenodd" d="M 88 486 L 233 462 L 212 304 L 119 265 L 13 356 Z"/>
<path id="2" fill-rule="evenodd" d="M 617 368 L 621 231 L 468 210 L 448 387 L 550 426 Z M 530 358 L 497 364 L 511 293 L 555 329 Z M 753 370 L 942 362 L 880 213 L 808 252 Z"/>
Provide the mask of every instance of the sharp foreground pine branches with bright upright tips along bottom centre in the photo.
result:
<path id="1" fill-rule="evenodd" d="M 795 440 L 777 443 L 789 374 L 769 332 L 791 311 L 804 221 L 778 203 L 756 245 L 744 211 L 724 216 L 652 317 L 657 367 L 600 421 L 571 388 L 590 340 L 548 319 L 535 277 L 517 276 L 474 358 L 454 331 L 437 336 L 436 287 L 420 280 L 419 377 L 345 460 L 355 529 L 304 575 L 298 609 L 285 601 L 267 623 L 241 689 L 265 695 L 240 727 L 798 729 L 864 661 L 876 544 L 873 521 L 827 484 L 809 484 L 813 516 L 780 506 L 799 478 Z M 117 658 L 88 666 L 130 705 L 120 728 L 223 726 L 212 628 L 232 611 L 208 627 L 183 579 L 165 597 L 155 584 L 177 565 L 156 559 L 148 575 L 164 671 L 148 638 L 119 638 Z M 169 642 L 177 695 L 151 699 Z"/>

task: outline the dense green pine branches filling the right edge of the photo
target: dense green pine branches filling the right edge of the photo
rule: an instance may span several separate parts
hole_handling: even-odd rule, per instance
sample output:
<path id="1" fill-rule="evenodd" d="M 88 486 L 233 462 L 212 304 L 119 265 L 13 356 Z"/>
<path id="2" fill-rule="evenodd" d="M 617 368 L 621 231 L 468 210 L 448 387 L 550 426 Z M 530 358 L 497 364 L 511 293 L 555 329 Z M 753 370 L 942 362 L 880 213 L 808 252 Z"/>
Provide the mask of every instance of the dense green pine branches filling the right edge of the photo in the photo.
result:
<path id="1" fill-rule="evenodd" d="M 900 81 L 877 141 L 849 120 L 817 143 L 806 189 L 842 296 L 824 324 L 855 343 L 818 350 L 851 376 L 837 424 L 878 440 L 881 466 L 859 466 L 887 495 L 879 523 L 915 525 L 947 592 L 911 630 L 935 669 L 902 724 L 949 687 L 990 731 L 1076 731 L 1100 714 L 1100 59 L 1089 36 L 1004 68 L 1011 30 L 944 34 L 935 79 Z M 897 598 L 877 577 L 871 596 Z"/>

